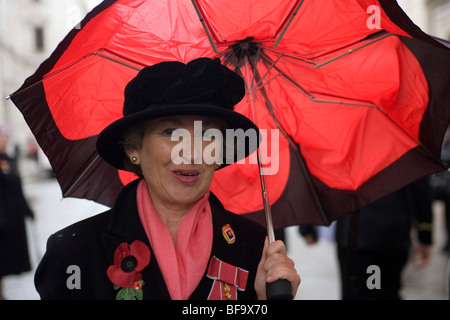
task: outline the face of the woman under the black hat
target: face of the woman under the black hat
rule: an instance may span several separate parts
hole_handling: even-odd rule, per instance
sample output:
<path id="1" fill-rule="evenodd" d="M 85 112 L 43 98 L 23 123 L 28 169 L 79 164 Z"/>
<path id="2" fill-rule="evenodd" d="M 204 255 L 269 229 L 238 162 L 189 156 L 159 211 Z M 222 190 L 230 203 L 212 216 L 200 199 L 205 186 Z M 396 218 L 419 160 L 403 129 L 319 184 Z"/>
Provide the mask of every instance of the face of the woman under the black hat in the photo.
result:
<path id="1" fill-rule="evenodd" d="M 194 152 L 194 121 L 201 121 L 203 132 L 220 128 L 219 121 L 210 117 L 172 116 L 150 120 L 144 130 L 141 149 L 126 151 L 130 159 L 136 157 L 133 163 L 140 165 L 153 202 L 191 206 L 209 189 L 214 171 L 219 165 L 206 164 L 204 161 L 199 163 L 198 159 L 194 161 L 194 155 L 199 154 Z M 181 139 L 171 141 L 172 133 L 176 129 L 187 130 L 191 139 L 190 155 L 180 151 L 179 155 L 185 158 L 181 164 L 175 164 L 172 159 L 174 147 L 178 145 L 177 149 L 180 149 Z M 198 135 L 198 132 L 196 134 Z M 203 154 L 205 147 L 212 142 L 201 141 Z M 183 140 L 183 143 L 185 142 Z M 189 156 L 190 159 L 187 159 Z"/>

